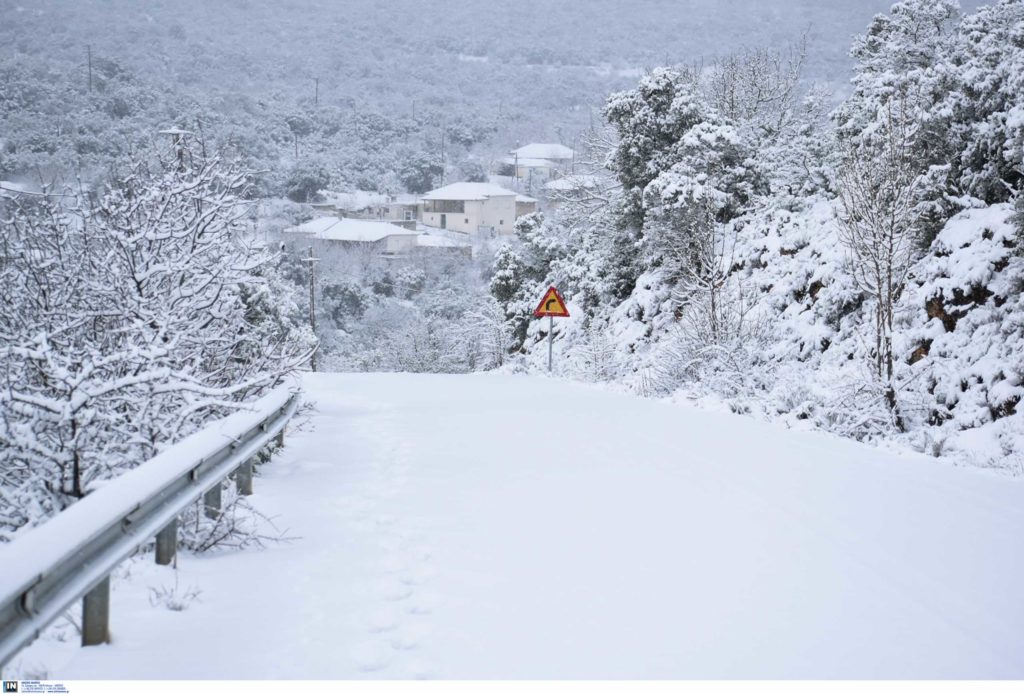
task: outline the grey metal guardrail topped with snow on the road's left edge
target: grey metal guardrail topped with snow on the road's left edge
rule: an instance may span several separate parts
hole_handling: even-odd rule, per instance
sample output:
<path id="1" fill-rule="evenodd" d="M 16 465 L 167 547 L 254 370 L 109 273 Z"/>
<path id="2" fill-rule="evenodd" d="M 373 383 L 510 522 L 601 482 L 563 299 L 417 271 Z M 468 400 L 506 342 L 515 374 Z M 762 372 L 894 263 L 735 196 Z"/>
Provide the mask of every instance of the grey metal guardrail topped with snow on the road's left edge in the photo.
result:
<path id="1" fill-rule="evenodd" d="M 260 398 L 256 411 L 214 422 L 105 484 L 46 523 L 0 547 L 0 664 L 35 641 L 76 600 L 83 600 L 82 645 L 110 640 L 110 574 L 154 536 L 157 563 L 177 548 L 177 518 L 205 496 L 220 513 L 220 490 L 236 473 L 252 493 L 252 459 L 279 438 L 299 405 L 294 387 Z"/>

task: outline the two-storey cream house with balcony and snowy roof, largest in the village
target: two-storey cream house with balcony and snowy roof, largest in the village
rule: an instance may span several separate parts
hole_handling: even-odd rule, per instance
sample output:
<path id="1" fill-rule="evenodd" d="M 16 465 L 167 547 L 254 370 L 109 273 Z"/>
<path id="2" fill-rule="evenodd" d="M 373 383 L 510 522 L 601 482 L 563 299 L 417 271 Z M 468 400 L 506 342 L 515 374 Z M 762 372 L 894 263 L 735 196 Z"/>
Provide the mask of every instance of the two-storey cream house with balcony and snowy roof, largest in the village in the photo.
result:
<path id="1" fill-rule="evenodd" d="M 512 233 L 516 193 L 494 183 L 452 183 L 421 198 L 426 226 L 469 234 Z"/>

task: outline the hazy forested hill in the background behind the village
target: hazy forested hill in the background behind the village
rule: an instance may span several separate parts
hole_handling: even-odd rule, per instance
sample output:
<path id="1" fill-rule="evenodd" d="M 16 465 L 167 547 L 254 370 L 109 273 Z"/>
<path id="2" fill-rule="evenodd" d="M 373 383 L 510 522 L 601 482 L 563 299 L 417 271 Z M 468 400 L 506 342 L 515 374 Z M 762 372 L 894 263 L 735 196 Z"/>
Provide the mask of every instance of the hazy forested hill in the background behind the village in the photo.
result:
<path id="1" fill-rule="evenodd" d="M 275 172 L 268 194 L 287 192 L 292 174 L 415 189 L 442 128 L 452 175 L 472 177 L 517 140 L 571 142 L 646 68 L 777 47 L 804 31 L 805 77 L 843 91 L 850 37 L 887 8 L 0 0 L 0 175 L 101 170 L 177 125 Z"/>

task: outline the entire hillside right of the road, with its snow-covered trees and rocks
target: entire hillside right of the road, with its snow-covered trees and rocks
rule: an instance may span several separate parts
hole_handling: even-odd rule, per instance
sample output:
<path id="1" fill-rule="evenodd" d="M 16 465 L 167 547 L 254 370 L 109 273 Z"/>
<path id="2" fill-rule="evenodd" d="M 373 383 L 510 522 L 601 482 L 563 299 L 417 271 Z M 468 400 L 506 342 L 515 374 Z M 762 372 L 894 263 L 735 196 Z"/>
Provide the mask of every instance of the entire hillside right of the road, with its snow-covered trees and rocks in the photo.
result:
<path id="1" fill-rule="evenodd" d="M 1024 474 L 1022 28 L 898 2 L 830 114 L 784 52 L 611 94 L 600 185 L 496 255 L 515 358 L 553 284 L 567 375 Z"/>

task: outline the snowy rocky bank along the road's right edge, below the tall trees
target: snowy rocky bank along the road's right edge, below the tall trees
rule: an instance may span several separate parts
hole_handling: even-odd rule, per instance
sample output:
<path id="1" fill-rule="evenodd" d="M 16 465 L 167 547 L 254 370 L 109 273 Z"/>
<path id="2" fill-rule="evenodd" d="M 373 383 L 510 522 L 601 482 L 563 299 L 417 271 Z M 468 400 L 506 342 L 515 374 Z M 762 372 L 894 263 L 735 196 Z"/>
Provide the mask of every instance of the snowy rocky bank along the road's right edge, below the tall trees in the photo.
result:
<path id="1" fill-rule="evenodd" d="M 723 232 L 735 247 L 723 296 L 749 313 L 719 343 L 699 334 L 706 309 L 685 304 L 664 268 L 641 274 L 621 303 L 591 309 L 592 319 L 580 305 L 586 292 L 557 281 L 569 286 L 572 317 L 555 326 L 556 371 L 1024 475 L 1024 255 L 1014 207 L 956 214 L 909 268 L 894 306 L 900 431 L 871 371 L 876 302 L 849 270 L 836 203 L 805 202 L 766 205 Z M 537 236 L 524 234 L 534 254 Z M 735 309 L 723 315 L 737 324 Z M 547 322 L 531 321 L 527 336 L 518 358 L 545 371 Z"/>

